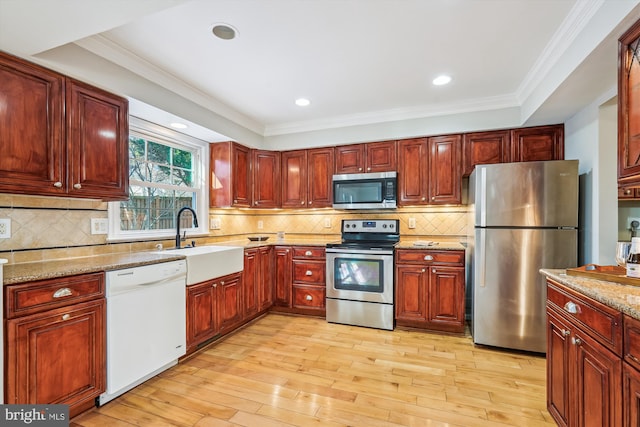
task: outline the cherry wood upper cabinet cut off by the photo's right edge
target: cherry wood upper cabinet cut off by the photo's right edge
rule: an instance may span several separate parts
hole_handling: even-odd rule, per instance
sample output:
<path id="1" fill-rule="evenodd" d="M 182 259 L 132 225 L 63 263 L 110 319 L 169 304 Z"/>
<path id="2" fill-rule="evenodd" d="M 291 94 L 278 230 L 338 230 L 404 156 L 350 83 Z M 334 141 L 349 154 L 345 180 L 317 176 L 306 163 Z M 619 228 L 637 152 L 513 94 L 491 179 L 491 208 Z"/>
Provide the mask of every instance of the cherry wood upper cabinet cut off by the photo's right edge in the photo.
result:
<path id="1" fill-rule="evenodd" d="M 618 42 L 618 184 L 640 186 L 640 21 Z"/>

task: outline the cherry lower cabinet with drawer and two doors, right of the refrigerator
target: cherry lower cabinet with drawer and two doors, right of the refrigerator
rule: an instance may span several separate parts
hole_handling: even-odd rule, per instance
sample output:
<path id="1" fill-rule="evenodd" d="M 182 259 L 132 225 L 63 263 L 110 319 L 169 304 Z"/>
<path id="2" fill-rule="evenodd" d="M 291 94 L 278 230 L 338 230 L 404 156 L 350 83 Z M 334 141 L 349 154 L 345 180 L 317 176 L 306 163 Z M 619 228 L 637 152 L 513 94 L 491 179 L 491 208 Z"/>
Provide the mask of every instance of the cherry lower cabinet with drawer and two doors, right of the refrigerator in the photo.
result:
<path id="1" fill-rule="evenodd" d="M 622 316 L 547 286 L 547 408 L 559 426 L 622 425 Z"/>

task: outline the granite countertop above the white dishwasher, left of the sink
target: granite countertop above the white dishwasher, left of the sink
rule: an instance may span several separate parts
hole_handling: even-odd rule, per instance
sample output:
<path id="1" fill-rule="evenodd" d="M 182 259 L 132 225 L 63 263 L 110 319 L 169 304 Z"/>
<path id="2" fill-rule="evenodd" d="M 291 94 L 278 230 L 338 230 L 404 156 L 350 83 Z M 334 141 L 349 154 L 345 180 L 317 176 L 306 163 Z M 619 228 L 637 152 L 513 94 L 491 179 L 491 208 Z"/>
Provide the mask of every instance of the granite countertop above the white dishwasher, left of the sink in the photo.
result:
<path id="1" fill-rule="evenodd" d="M 13 285 L 34 280 L 73 276 L 75 274 L 120 270 L 184 258 L 184 256 L 180 255 L 159 254 L 158 252 L 134 252 L 6 264 L 4 266 L 3 284 Z"/>

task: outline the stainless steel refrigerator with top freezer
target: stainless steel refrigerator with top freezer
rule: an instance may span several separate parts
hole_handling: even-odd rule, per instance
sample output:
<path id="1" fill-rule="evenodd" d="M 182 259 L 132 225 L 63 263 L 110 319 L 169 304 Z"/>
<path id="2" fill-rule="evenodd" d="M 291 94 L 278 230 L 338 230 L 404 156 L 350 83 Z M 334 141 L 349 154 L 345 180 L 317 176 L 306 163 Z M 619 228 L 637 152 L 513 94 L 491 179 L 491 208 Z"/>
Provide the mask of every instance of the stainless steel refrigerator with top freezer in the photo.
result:
<path id="1" fill-rule="evenodd" d="M 546 352 L 540 268 L 578 259 L 578 161 L 479 165 L 469 178 L 473 342 Z"/>

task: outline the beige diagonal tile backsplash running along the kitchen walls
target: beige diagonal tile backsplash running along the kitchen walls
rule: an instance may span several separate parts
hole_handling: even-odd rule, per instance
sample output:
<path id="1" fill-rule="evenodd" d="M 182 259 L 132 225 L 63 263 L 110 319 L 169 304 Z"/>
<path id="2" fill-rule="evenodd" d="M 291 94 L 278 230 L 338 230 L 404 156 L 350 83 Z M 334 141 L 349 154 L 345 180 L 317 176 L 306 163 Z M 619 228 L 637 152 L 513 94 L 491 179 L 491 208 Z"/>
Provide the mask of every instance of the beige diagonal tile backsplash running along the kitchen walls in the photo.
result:
<path id="1" fill-rule="evenodd" d="M 254 210 L 211 209 L 209 219 L 219 220 L 220 229 L 196 240 L 203 243 L 243 238 L 248 234 L 338 239 L 341 220 L 399 219 L 404 237 L 464 241 L 467 233 L 466 206 L 409 207 L 392 211 L 337 211 L 333 209 Z M 153 249 L 158 242 L 172 246 L 172 239 L 140 242 L 109 242 L 104 234 L 91 234 L 91 219 L 107 218 L 107 203 L 0 194 L 0 219 L 8 219 L 11 237 L 0 238 L 0 258 L 11 263 L 67 258 L 112 252 Z M 409 220 L 415 228 L 409 228 Z"/>

